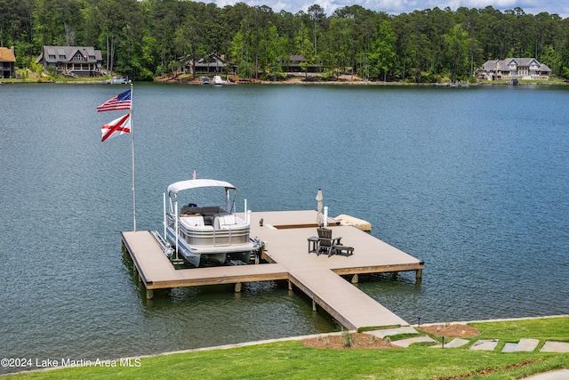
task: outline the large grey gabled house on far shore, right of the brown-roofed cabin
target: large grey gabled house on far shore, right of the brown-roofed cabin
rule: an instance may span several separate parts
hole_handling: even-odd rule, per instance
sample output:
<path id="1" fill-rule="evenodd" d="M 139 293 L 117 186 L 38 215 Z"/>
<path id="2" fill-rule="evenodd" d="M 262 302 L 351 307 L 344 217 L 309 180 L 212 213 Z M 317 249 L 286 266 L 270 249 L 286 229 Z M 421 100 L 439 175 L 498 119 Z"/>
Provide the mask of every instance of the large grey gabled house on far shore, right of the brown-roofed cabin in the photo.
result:
<path id="1" fill-rule="evenodd" d="M 92 46 L 44 46 L 36 63 L 68 77 L 100 77 L 103 58 Z"/>

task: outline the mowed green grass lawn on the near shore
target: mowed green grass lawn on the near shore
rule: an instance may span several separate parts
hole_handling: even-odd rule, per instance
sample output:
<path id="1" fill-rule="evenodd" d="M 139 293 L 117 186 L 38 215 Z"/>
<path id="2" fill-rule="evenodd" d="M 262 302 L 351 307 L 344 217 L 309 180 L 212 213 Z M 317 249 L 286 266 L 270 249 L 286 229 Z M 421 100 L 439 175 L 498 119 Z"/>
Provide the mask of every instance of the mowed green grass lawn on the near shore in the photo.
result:
<path id="1" fill-rule="evenodd" d="M 569 317 L 473 323 L 481 335 L 500 339 L 493 352 L 434 349 L 425 344 L 389 350 L 309 348 L 296 341 L 140 358 L 133 366 L 61 368 L 10 376 L 15 379 L 517 379 L 569 368 L 569 353 L 538 352 L 545 341 L 569 342 Z M 439 336 L 433 336 L 438 339 Z M 501 352 L 506 342 L 540 339 L 536 352 Z M 123 363 L 124 364 L 124 363 Z M 462 378 L 462 377 L 461 377 Z"/>

